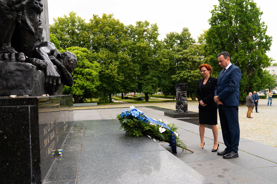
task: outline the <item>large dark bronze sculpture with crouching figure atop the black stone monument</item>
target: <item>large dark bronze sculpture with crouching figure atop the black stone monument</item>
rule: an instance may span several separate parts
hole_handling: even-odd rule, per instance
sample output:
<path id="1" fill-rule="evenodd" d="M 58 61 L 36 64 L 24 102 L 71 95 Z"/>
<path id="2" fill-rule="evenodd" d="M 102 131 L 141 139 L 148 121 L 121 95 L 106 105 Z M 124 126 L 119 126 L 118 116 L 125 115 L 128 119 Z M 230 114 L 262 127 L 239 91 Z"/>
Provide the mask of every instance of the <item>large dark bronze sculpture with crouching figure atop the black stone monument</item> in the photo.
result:
<path id="1" fill-rule="evenodd" d="M 0 0 L 0 60 L 36 66 L 44 73 L 45 91 L 55 94 L 61 84 L 73 85 L 70 73 L 77 58 L 71 52 L 58 52 L 49 41 L 43 42 L 42 12 L 41 0 Z"/>

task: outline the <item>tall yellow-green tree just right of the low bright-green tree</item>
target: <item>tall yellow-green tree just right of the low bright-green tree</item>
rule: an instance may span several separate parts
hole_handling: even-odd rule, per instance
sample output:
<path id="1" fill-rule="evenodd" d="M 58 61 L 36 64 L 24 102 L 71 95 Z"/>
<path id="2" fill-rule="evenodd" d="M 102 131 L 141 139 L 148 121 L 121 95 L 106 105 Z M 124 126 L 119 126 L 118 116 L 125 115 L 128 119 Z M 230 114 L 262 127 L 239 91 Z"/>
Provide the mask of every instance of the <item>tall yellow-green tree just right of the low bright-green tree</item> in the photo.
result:
<path id="1" fill-rule="evenodd" d="M 129 37 L 124 24 L 113 18 L 112 14 L 103 14 L 102 18 L 93 15 L 88 24 L 91 35 L 90 47 L 94 50 L 93 58 L 100 64 L 99 78 L 102 101 L 112 102 L 111 95 L 124 91 L 128 81 L 128 70 L 132 70 L 126 42 Z"/>

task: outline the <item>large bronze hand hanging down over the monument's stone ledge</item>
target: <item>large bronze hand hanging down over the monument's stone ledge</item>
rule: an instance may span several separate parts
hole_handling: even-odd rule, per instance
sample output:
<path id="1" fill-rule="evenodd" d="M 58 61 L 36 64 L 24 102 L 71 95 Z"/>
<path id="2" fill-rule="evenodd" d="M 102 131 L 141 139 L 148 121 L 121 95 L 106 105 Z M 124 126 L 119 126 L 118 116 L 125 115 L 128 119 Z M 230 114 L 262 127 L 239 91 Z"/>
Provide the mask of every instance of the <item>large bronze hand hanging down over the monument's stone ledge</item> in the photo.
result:
<path id="1" fill-rule="evenodd" d="M 57 91 L 60 84 L 61 84 L 60 75 L 55 70 L 54 65 L 46 61 L 45 86 L 46 86 L 47 92 L 52 94 L 53 92 Z"/>

